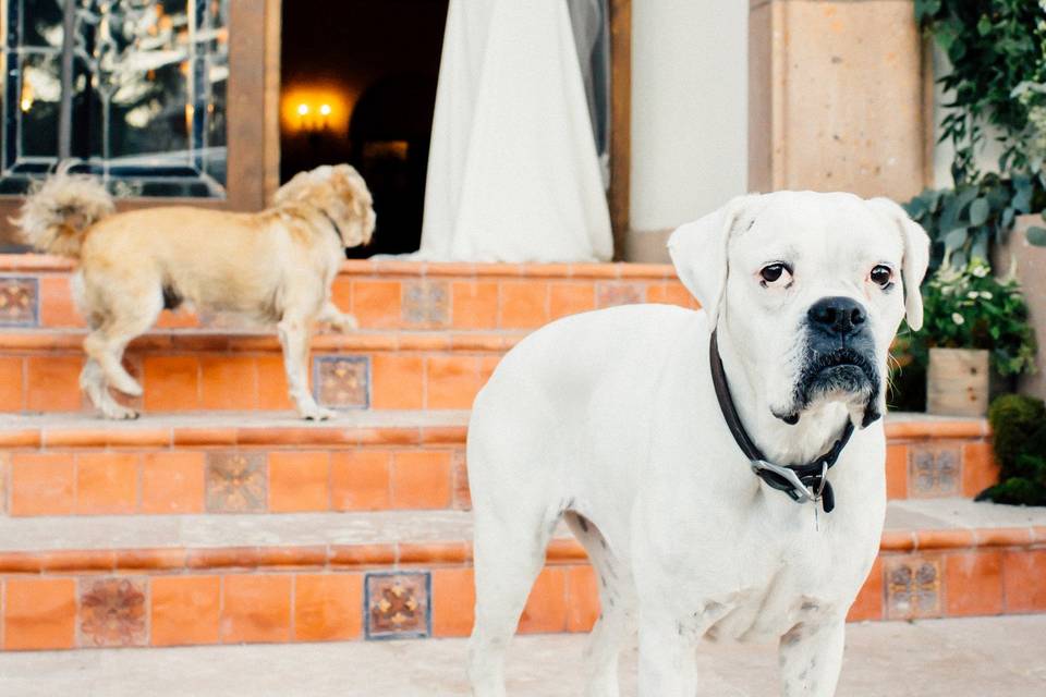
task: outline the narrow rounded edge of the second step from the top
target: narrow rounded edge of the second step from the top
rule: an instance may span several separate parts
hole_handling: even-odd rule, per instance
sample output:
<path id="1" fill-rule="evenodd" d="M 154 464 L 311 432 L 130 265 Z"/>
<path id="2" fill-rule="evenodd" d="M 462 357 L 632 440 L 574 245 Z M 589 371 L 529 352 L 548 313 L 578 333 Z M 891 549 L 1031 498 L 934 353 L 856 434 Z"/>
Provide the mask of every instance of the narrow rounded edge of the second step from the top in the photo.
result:
<path id="1" fill-rule="evenodd" d="M 503 353 L 518 344 L 526 331 L 381 331 L 364 330 L 345 334 L 319 333 L 312 339 L 313 352 L 331 351 L 469 351 Z M 0 331 L 0 354 L 82 353 L 86 333 L 66 329 Z M 279 353 L 276 332 L 240 333 L 216 331 L 153 332 L 127 346 L 137 352 Z"/>

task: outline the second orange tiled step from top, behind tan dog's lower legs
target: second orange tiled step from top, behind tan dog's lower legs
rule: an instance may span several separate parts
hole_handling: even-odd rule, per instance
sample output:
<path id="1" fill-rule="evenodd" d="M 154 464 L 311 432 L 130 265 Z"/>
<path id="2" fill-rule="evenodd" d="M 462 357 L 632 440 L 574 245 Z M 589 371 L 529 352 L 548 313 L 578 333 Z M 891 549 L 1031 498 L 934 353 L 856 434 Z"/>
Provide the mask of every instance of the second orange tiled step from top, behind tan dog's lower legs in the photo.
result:
<path id="1" fill-rule="evenodd" d="M 472 406 L 521 332 L 320 334 L 309 378 L 317 400 L 345 409 Z M 0 411 L 93 412 L 80 390 L 82 334 L 0 332 Z M 291 408 L 273 335 L 148 334 L 125 364 L 145 394 L 119 398 L 147 412 Z"/>

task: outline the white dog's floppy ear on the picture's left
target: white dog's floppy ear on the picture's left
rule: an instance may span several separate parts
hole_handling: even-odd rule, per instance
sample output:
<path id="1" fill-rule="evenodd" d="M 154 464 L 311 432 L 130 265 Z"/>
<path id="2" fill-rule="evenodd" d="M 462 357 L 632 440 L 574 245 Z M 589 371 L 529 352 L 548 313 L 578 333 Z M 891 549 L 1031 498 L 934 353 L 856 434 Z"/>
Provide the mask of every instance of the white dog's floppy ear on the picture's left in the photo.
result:
<path id="1" fill-rule="evenodd" d="M 678 228 L 668 239 L 668 253 L 676 273 L 697 298 L 716 327 L 727 288 L 727 250 L 730 234 L 747 205 L 757 194 L 738 196 L 715 212 Z"/>

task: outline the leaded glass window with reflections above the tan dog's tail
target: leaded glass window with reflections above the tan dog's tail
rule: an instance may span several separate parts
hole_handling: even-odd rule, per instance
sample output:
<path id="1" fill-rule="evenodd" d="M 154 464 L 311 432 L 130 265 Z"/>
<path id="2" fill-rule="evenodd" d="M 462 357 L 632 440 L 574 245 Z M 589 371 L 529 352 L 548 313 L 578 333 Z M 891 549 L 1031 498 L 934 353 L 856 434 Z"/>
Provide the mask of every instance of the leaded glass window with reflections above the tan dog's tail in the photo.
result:
<path id="1" fill-rule="evenodd" d="M 229 0 L 0 0 L 0 194 L 62 160 L 119 196 L 223 198 Z"/>

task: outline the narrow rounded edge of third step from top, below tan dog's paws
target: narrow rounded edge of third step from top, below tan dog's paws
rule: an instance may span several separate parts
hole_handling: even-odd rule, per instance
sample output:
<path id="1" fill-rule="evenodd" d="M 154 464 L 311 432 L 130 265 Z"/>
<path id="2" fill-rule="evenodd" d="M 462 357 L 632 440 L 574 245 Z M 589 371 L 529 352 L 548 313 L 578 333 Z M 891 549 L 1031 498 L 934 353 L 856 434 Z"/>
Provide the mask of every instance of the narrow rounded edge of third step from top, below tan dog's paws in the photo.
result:
<path id="1" fill-rule="evenodd" d="M 26 417 L 29 419 L 32 417 Z M 130 426 L 120 421 L 97 420 L 90 427 L 23 426 L 16 418 L 0 423 L 0 448 L 207 448 L 260 445 L 427 445 L 462 444 L 467 427 L 461 426 L 338 426 L 337 421 L 316 426 L 271 426 L 250 424 L 250 417 L 235 426 L 150 426 L 144 417 Z M 161 417 L 162 418 L 162 417 Z M 138 426 L 137 424 L 142 424 Z M 327 425 L 330 424 L 330 425 Z M 988 438 L 986 419 L 887 421 L 890 443 L 931 439 Z"/>

